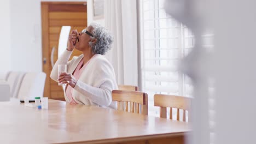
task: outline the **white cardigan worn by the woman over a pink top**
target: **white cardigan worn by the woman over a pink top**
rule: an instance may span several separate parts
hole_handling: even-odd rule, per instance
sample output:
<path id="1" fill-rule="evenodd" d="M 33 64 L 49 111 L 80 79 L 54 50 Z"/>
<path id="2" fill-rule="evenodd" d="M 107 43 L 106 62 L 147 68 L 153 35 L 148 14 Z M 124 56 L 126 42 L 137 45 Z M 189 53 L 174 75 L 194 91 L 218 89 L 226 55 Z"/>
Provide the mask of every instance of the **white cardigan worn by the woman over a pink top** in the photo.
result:
<path id="1" fill-rule="evenodd" d="M 51 71 L 51 79 L 57 82 L 58 77 L 58 65 L 67 64 L 67 73 L 73 74 L 78 63 L 84 57 L 73 57 L 71 61 L 68 61 L 72 54 L 72 51 L 65 51 L 61 57 L 55 63 L 53 70 Z M 66 89 L 66 88 L 65 88 Z M 72 97 L 78 104 L 84 105 L 96 105 L 101 107 L 111 107 L 116 109 L 117 104 L 112 103 L 112 90 L 118 89 L 115 81 L 115 72 L 113 66 L 107 61 L 104 56 L 96 54 L 96 56 L 90 59 L 88 65 L 86 65 L 82 75 L 77 80 Z M 65 99 L 69 103 L 69 99 L 64 92 Z M 111 105 L 110 105 L 111 104 Z"/>

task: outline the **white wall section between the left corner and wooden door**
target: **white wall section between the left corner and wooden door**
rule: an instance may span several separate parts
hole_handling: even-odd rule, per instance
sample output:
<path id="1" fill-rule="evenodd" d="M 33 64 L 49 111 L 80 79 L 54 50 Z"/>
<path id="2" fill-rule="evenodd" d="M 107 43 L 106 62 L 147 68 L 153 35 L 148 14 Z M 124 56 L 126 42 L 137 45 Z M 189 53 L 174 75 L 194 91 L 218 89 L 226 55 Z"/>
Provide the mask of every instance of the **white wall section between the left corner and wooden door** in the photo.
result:
<path id="1" fill-rule="evenodd" d="M 40 0 L 10 0 L 11 70 L 42 71 Z"/>

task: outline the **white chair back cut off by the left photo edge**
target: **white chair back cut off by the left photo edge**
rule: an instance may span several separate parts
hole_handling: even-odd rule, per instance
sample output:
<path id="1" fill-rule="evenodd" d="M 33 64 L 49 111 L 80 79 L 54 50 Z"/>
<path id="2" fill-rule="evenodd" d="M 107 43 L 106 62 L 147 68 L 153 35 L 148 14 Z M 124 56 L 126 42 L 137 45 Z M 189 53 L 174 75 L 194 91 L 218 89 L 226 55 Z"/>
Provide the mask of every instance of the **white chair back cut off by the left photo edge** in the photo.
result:
<path id="1" fill-rule="evenodd" d="M 6 81 L 0 81 L 0 101 L 10 101 L 10 86 Z"/>

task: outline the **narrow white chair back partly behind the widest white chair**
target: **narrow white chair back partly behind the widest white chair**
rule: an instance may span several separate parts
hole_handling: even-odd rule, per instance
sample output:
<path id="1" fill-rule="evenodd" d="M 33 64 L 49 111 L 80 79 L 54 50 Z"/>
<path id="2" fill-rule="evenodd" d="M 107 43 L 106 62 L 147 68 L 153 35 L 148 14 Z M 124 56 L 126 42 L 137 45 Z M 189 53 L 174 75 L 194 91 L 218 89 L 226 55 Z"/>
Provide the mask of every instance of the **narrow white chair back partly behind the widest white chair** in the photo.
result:
<path id="1" fill-rule="evenodd" d="M 24 77 L 25 73 L 22 72 L 16 72 L 16 71 L 11 71 L 9 73 L 7 82 L 9 83 L 10 86 L 10 97 L 12 98 L 17 98 L 18 97 L 18 92 L 20 89 L 21 81 Z"/>

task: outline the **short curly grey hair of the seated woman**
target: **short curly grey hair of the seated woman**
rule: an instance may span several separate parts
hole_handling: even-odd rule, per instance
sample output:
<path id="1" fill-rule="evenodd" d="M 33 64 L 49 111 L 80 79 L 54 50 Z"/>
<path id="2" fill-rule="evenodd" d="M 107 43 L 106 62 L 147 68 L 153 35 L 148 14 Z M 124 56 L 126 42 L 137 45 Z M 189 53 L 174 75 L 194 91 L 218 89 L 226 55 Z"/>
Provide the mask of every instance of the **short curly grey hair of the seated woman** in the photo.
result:
<path id="1" fill-rule="evenodd" d="M 92 28 L 94 29 L 92 31 L 92 35 L 94 35 L 94 37 L 91 38 L 96 38 L 97 41 L 95 44 L 90 41 L 89 46 L 94 53 L 105 55 L 105 53 L 111 48 L 111 45 L 113 43 L 112 35 L 106 28 L 102 27 L 96 22 L 92 22 L 90 26 L 92 26 Z"/>

